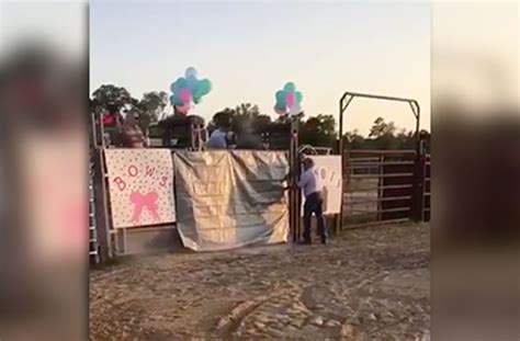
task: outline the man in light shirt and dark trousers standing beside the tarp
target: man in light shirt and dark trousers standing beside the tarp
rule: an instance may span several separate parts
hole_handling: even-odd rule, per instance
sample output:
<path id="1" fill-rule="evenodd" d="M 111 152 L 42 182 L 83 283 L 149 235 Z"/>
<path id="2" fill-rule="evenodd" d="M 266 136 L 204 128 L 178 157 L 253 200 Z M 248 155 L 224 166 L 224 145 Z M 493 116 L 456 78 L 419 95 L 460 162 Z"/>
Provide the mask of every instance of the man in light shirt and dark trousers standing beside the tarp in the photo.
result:
<path id="1" fill-rule="evenodd" d="M 313 213 L 316 215 L 318 225 L 318 235 L 321 238 L 321 243 L 327 243 L 327 229 L 325 226 L 323 212 L 323 196 L 316 173 L 314 172 L 314 161 L 306 158 L 303 161 L 304 171 L 297 183 L 298 187 L 303 189 L 305 195 L 304 204 L 304 243 L 312 243 L 310 239 L 310 217 Z"/>

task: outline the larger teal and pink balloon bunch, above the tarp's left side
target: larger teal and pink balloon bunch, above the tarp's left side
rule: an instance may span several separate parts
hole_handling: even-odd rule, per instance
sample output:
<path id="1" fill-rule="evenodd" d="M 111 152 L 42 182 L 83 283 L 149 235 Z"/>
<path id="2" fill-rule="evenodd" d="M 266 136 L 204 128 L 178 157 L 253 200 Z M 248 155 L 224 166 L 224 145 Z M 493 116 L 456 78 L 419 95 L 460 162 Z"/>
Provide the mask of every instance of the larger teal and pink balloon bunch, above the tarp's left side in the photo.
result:
<path id="1" fill-rule="evenodd" d="M 199 80 L 194 68 L 188 68 L 184 77 L 179 77 L 170 87 L 170 103 L 174 105 L 180 113 L 188 113 L 192 103 L 199 104 L 202 96 L 212 90 L 212 83 L 208 79 Z"/>

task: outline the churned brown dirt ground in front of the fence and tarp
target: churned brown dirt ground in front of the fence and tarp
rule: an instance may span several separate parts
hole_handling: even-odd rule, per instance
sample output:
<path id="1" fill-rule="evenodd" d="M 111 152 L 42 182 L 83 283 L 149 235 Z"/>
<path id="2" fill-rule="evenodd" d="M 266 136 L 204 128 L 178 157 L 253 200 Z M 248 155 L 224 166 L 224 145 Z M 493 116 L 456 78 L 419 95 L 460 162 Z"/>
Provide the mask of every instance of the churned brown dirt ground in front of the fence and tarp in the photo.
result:
<path id="1" fill-rule="evenodd" d="M 123 260 L 91 271 L 91 340 L 429 340 L 430 229 Z"/>

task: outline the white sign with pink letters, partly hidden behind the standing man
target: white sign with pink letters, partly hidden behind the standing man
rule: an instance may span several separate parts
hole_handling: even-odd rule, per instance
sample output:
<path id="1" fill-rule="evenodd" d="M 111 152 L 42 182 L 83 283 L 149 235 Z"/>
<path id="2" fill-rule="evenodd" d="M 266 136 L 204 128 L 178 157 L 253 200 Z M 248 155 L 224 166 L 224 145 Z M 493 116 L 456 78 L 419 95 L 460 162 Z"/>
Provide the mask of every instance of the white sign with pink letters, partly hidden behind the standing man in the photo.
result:
<path id="1" fill-rule="evenodd" d="M 314 173 L 316 174 L 317 185 L 321 189 L 321 195 L 324 196 L 324 214 L 339 214 L 342 195 L 341 156 L 324 155 L 307 157 L 314 160 Z M 302 200 L 302 205 L 304 202 L 305 197 Z"/>

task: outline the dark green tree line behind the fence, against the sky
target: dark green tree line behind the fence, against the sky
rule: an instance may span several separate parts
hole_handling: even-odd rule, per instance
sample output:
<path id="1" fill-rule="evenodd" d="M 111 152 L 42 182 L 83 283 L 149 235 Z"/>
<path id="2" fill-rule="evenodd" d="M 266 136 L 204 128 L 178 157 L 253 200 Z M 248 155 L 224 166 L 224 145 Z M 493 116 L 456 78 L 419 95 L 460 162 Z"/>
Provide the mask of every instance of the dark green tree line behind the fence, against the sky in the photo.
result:
<path id="1" fill-rule="evenodd" d="M 92 93 L 90 105 L 91 113 L 95 115 L 102 114 L 109 107 L 115 109 L 120 113 L 132 112 L 138 116 L 139 125 L 144 132 L 148 132 L 154 123 L 168 120 L 165 114 L 165 110 L 169 105 L 168 93 L 163 91 L 146 92 L 140 100 L 137 100 L 123 87 L 103 84 Z M 247 128 L 252 133 L 261 133 L 276 121 L 280 118 L 273 121 L 271 116 L 262 114 L 258 105 L 241 103 L 215 113 L 207 123 L 207 128 L 211 132 L 217 125 L 226 122 L 233 132 Z M 157 132 L 157 128 L 154 130 Z M 425 134 L 427 141 L 429 141 L 430 134 L 427 130 L 421 130 L 421 134 Z M 377 117 L 373 122 L 368 136 L 363 136 L 354 129 L 347 132 L 344 137 L 352 149 L 414 149 L 416 147 L 415 132 L 398 128 L 393 122 L 386 122 L 383 117 Z M 318 114 L 301 117 L 298 139 L 301 145 L 334 148 L 338 139 L 334 115 Z M 426 148 L 429 150 L 429 143 Z"/>

